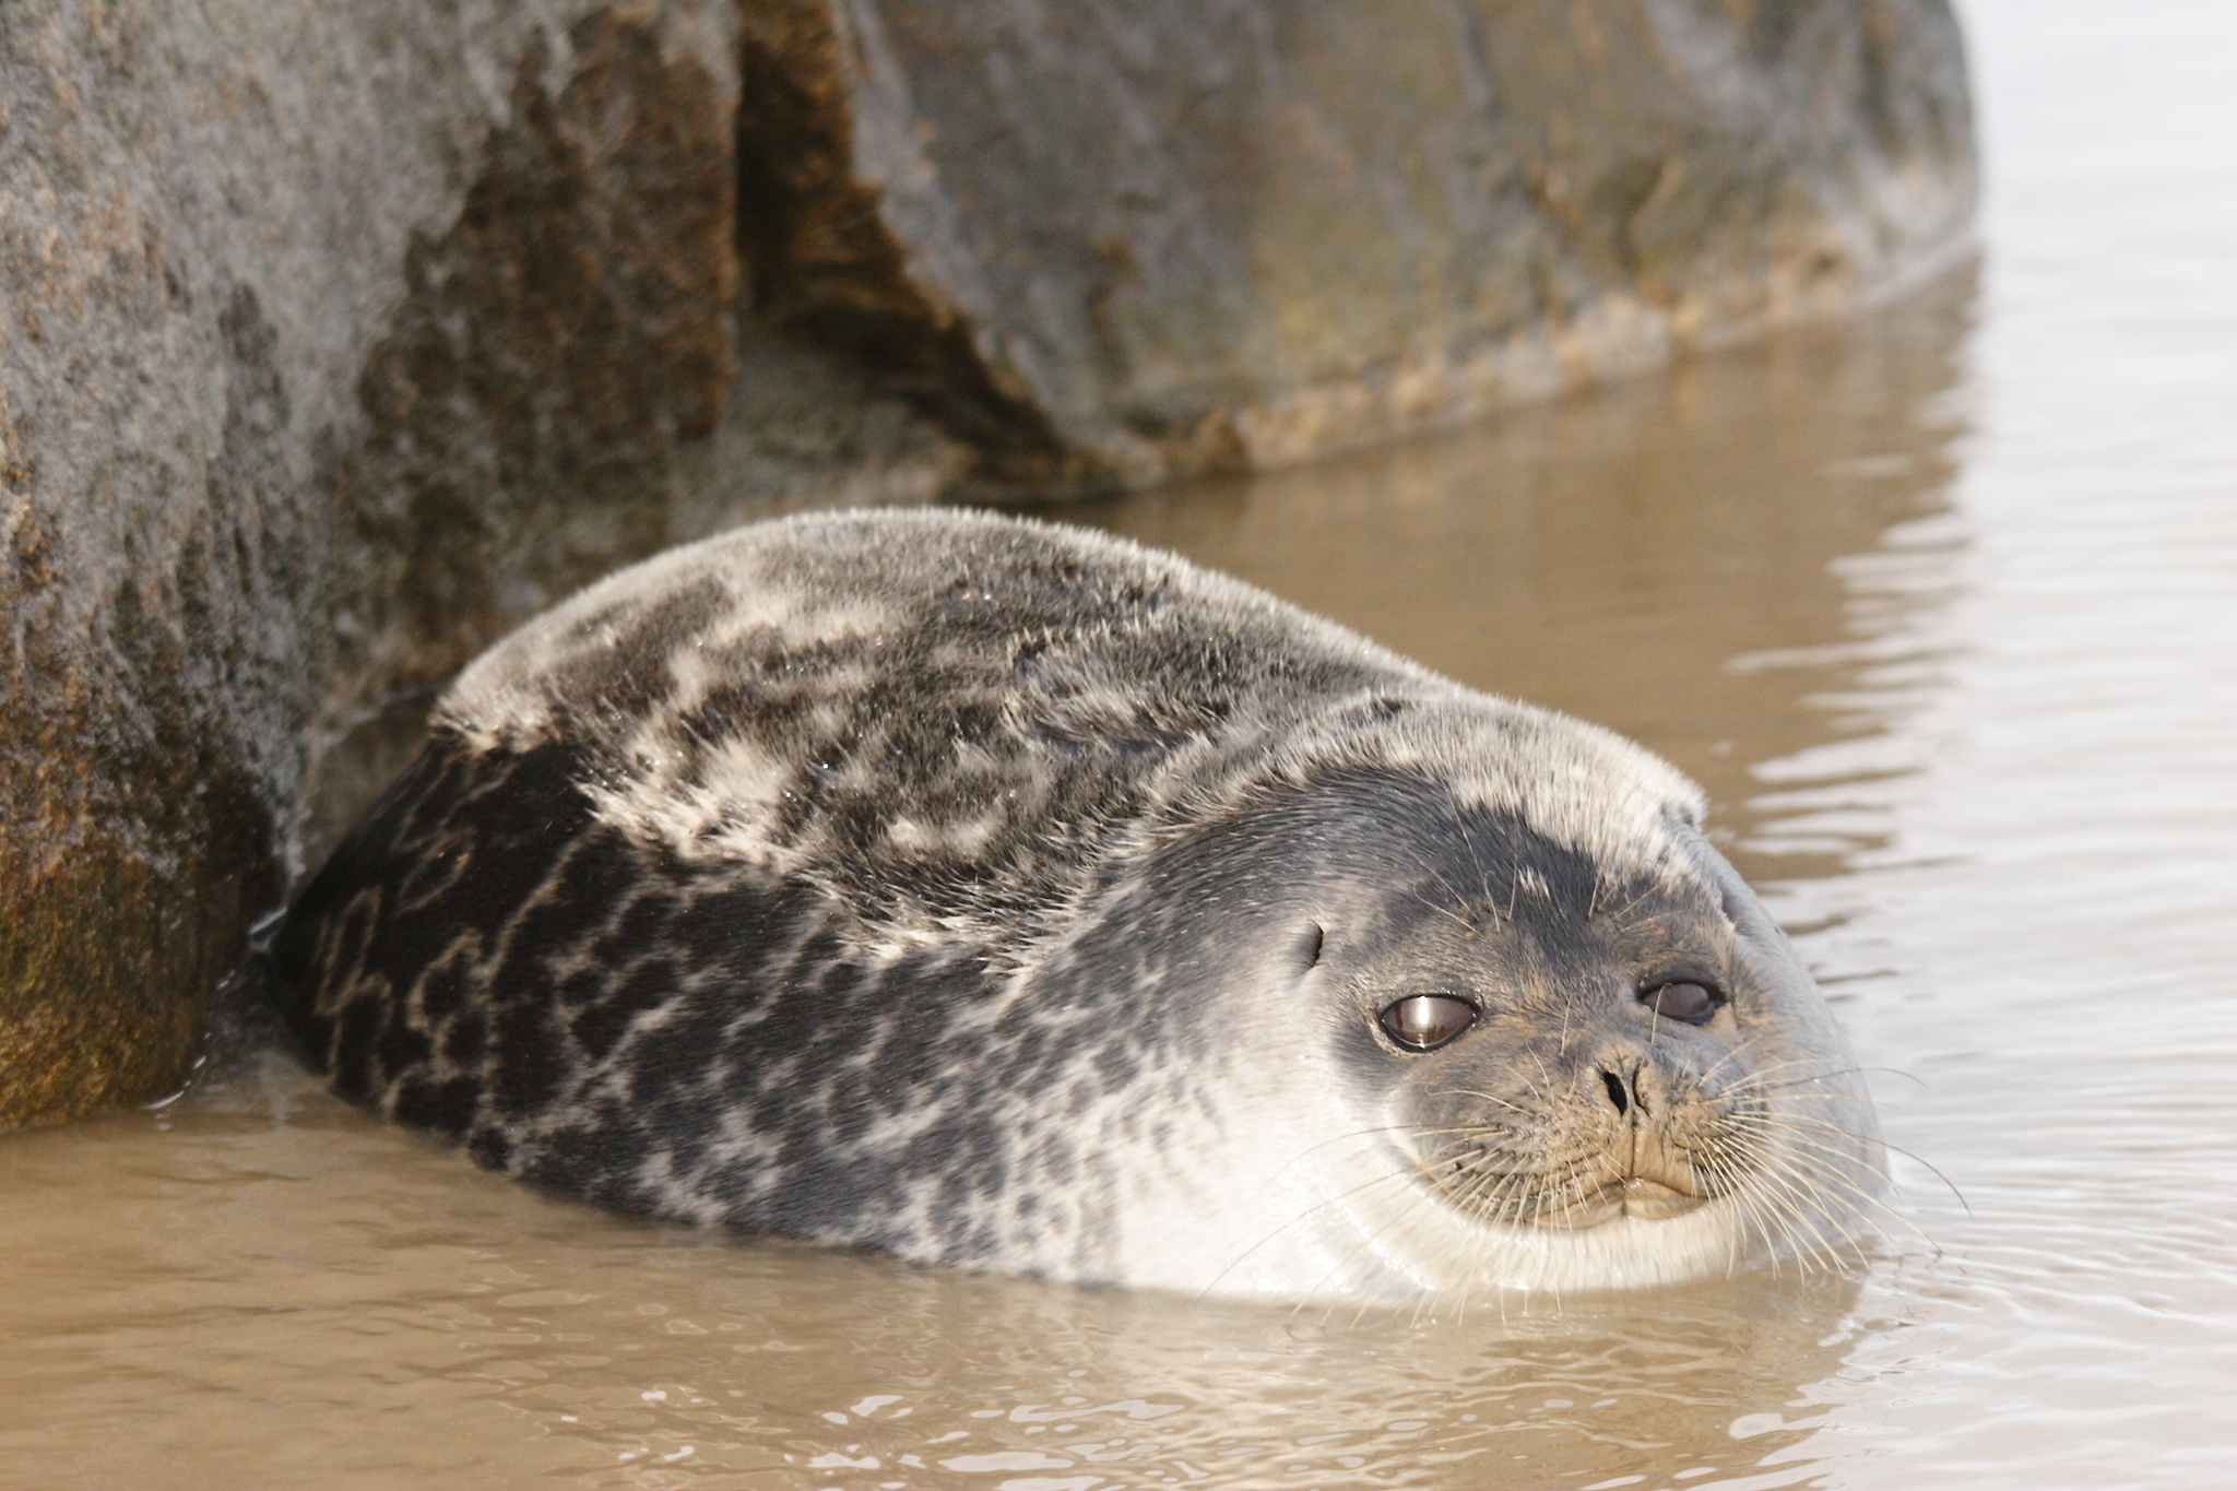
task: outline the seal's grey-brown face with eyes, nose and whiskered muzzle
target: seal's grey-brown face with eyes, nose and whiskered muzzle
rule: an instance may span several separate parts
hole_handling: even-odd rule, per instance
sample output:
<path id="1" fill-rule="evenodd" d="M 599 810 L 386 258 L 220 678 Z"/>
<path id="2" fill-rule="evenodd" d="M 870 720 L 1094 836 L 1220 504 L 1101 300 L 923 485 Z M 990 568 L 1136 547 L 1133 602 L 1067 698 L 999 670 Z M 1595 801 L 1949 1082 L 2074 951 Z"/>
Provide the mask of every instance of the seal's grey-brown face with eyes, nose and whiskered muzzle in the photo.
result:
<path id="1" fill-rule="evenodd" d="M 1767 1109 L 1731 1004 L 1747 975 L 1718 908 L 1687 890 L 1604 912 L 1591 892 L 1584 908 L 1517 894 L 1356 979 L 1438 1198 L 1575 1229 L 1680 1216 L 1754 1171 Z M 1423 993 L 1385 1004 L 1394 988 Z"/>

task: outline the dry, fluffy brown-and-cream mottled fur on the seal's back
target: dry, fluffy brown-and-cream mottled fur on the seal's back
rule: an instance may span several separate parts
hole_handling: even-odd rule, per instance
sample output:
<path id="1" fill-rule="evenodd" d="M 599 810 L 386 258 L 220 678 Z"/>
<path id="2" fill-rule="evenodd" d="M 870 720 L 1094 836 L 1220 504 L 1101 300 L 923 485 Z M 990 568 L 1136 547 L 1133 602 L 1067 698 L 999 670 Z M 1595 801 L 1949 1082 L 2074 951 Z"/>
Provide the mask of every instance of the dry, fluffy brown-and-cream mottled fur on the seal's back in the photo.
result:
<path id="1" fill-rule="evenodd" d="M 1253 776 L 1331 702 L 1385 718 L 1378 686 L 1450 691 L 1163 554 L 924 519 L 794 523 L 725 577 L 747 606 L 691 579 L 586 608 L 566 628 L 586 644 L 537 680 L 577 773 L 638 803 L 727 800 L 671 832 L 685 854 L 749 838 L 863 928 L 971 919 L 1009 957 L 1154 825 L 1177 773 Z M 763 597 L 781 615 L 736 624 Z M 702 677 L 678 684 L 678 657 Z M 776 767 L 754 800 L 723 776 L 736 742 Z"/>

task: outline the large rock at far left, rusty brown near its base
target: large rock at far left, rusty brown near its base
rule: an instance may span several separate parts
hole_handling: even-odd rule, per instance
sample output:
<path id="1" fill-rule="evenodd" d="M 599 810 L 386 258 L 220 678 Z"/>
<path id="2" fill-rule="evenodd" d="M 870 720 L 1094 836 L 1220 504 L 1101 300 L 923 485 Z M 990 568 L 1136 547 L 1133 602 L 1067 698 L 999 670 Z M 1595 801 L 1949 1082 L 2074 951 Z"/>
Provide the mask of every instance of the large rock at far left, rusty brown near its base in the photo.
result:
<path id="1" fill-rule="evenodd" d="M 0 1124 L 179 1084 L 309 731 L 658 543 L 716 0 L 0 13 Z"/>

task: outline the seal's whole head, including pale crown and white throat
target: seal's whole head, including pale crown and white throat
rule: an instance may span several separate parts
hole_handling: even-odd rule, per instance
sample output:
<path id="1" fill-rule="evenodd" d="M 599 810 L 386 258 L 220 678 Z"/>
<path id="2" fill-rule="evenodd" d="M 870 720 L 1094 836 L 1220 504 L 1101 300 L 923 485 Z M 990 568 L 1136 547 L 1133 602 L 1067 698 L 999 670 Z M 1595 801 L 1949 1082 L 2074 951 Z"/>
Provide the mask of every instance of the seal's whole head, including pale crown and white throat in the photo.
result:
<path id="1" fill-rule="evenodd" d="M 1201 1122 L 1143 1153 L 1186 1203 L 1123 1209 L 1159 1281 L 1604 1290 L 1850 1238 L 1870 1102 L 1693 789 L 1573 720 L 1376 709 L 1163 845 L 1042 972 L 1063 1004 L 1134 950 L 1159 1060 L 1201 1075 Z"/>

